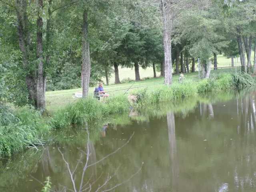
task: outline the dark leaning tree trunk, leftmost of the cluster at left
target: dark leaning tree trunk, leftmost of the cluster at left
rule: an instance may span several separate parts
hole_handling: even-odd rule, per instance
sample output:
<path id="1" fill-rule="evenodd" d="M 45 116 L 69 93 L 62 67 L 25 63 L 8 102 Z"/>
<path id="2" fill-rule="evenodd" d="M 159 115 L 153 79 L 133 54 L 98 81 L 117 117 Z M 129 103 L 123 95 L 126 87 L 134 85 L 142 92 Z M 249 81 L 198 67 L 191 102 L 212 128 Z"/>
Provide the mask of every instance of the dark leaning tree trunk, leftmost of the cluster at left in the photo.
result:
<path id="1" fill-rule="evenodd" d="M 31 37 L 28 31 L 28 17 L 27 17 L 27 4 L 26 1 L 16 0 L 18 9 L 16 10 L 17 15 L 17 26 L 18 26 L 18 37 L 20 51 L 22 52 L 22 63 L 24 71 L 27 73 L 25 77 L 26 86 L 28 89 L 28 99 L 30 103 L 36 107 L 36 74 L 34 71 L 29 69 L 29 54 L 28 47 L 31 44 Z"/>

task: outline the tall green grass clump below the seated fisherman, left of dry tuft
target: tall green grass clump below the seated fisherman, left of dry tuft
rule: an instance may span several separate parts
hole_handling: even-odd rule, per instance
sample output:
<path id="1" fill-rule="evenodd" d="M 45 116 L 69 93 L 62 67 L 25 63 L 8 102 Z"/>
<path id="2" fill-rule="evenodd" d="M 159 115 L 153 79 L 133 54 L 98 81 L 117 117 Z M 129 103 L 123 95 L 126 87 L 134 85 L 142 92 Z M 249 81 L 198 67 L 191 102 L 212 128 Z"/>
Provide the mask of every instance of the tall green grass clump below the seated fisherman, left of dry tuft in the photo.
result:
<path id="1" fill-rule="evenodd" d="M 127 110 L 129 110 L 129 102 L 126 96 L 108 98 L 106 103 L 100 103 L 98 100 L 88 97 L 58 110 L 50 119 L 49 124 L 52 128 L 58 129 L 72 124 L 100 120 L 109 114 Z"/>

